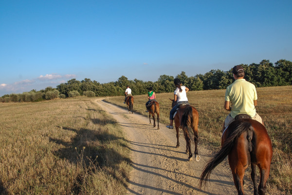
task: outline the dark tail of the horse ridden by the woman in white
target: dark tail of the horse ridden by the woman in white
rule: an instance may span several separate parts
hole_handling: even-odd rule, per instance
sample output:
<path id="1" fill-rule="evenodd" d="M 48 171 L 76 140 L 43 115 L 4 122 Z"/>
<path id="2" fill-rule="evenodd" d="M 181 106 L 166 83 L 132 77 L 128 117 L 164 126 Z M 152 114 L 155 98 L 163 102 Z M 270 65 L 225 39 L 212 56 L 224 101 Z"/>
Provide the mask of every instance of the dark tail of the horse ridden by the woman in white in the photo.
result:
<path id="1" fill-rule="evenodd" d="M 192 131 L 192 125 L 193 124 L 193 109 L 192 106 L 187 106 L 186 109 L 183 112 L 182 116 L 182 122 L 181 122 L 181 127 L 186 128 L 188 131 L 189 136 L 192 135 L 192 132 L 194 133 L 194 139 L 191 138 L 192 142 L 194 143 L 194 140 L 198 140 L 198 132 L 197 131 Z M 195 144 L 195 143 L 194 143 Z"/>

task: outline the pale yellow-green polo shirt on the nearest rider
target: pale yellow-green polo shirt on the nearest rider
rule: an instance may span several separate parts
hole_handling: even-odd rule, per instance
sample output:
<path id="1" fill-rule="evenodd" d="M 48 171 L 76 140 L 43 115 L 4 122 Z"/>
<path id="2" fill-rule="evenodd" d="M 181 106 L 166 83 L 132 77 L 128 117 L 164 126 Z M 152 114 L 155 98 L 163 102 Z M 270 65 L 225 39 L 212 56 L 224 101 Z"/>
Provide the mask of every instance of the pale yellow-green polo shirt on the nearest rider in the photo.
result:
<path id="1" fill-rule="evenodd" d="M 225 101 L 230 101 L 232 104 L 230 115 L 233 118 L 238 114 L 248 114 L 251 117 L 255 117 L 256 108 L 254 100 L 256 99 L 255 85 L 244 78 L 236 79 L 226 88 Z"/>

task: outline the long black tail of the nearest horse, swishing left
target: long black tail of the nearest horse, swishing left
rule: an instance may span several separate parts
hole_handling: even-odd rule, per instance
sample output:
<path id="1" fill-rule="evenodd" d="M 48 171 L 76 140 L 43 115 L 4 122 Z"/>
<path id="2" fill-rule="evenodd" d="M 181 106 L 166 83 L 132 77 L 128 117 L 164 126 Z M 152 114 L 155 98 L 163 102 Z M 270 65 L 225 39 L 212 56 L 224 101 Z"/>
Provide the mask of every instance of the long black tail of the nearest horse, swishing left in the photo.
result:
<path id="1" fill-rule="evenodd" d="M 208 164 L 205 166 L 201 176 L 200 176 L 200 188 L 202 187 L 202 184 L 204 183 L 204 187 L 206 187 L 206 182 L 210 178 L 210 174 L 213 171 L 213 169 L 219 165 L 227 155 L 229 155 L 230 151 L 234 147 L 234 144 L 237 140 L 237 138 L 243 133 L 248 132 L 247 135 L 247 141 L 249 145 L 249 151 L 252 150 L 252 143 L 251 140 L 253 138 L 253 128 L 251 126 L 251 123 L 248 121 L 237 123 L 237 125 L 230 129 L 229 132 L 232 132 L 225 140 L 223 146 L 221 147 L 220 151 L 213 156 Z M 226 132 L 227 133 L 227 132 Z"/>

